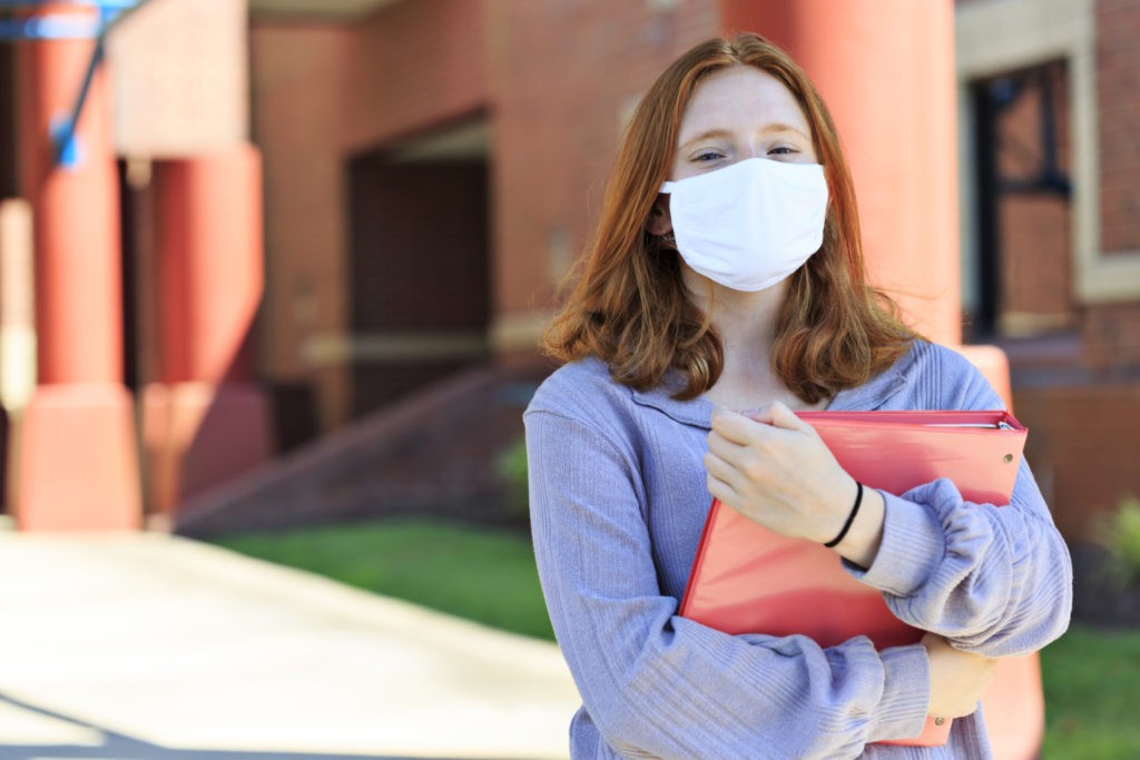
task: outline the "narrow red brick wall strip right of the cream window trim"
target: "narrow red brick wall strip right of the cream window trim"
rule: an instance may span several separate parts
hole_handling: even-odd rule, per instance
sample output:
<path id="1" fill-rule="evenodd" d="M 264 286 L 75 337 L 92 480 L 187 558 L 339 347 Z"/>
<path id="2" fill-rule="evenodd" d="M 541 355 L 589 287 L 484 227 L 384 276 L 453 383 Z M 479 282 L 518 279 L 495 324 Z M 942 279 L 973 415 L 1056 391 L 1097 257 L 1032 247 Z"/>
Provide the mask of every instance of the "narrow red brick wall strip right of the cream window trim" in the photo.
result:
<path id="1" fill-rule="evenodd" d="M 1101 251 L 1140 251 L 1140 0 L 1097 2 Z"/>

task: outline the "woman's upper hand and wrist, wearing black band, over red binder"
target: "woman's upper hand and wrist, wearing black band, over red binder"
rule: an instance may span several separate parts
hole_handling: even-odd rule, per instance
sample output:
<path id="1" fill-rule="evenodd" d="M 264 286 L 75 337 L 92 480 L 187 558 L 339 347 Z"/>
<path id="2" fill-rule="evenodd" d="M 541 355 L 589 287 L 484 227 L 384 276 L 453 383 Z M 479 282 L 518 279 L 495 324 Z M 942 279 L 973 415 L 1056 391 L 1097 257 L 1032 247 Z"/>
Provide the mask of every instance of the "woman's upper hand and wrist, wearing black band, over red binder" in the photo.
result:
<path id="1" fill-rule="evenodd" d="M 705 455 L 709 492 L 771 531 L 816 544 L 833 539 L 854 506 L 857 487 L 815 428 L 775 402 L 749 415 L 712 412 Z M 863 504 L 836 551 L 868 567 L 882 540 L 882 496 Z"/>

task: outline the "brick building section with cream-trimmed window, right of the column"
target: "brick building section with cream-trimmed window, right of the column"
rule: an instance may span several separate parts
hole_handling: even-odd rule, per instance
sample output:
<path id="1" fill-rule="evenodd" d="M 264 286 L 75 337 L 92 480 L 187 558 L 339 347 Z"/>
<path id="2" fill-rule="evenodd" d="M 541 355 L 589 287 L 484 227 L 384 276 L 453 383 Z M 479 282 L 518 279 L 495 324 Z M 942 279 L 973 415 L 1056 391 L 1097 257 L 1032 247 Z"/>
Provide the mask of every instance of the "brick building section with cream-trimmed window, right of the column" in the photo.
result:
<path id="1" fill-rule="evenodd" d="M 1140 493 L 1140 2 L 956 3 L 963 305 L 1066 536 Z"/>

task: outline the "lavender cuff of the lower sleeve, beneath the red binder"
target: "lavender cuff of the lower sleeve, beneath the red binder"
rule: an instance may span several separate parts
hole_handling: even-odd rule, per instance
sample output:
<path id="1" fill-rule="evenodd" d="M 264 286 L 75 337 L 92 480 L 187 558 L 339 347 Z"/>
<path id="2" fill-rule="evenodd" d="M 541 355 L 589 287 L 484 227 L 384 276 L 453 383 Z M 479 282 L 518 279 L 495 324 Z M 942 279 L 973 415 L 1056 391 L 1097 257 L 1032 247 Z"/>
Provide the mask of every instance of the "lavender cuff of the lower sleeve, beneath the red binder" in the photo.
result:
<path id="1" fill-rule="evenodd" d="M 882 660 L 882 700 L 868 724 L 868 741 L 909 738 L 926 727 L 930 705 L 930 663 L 926 648 L 898 646 L 879 653 Z"/>

